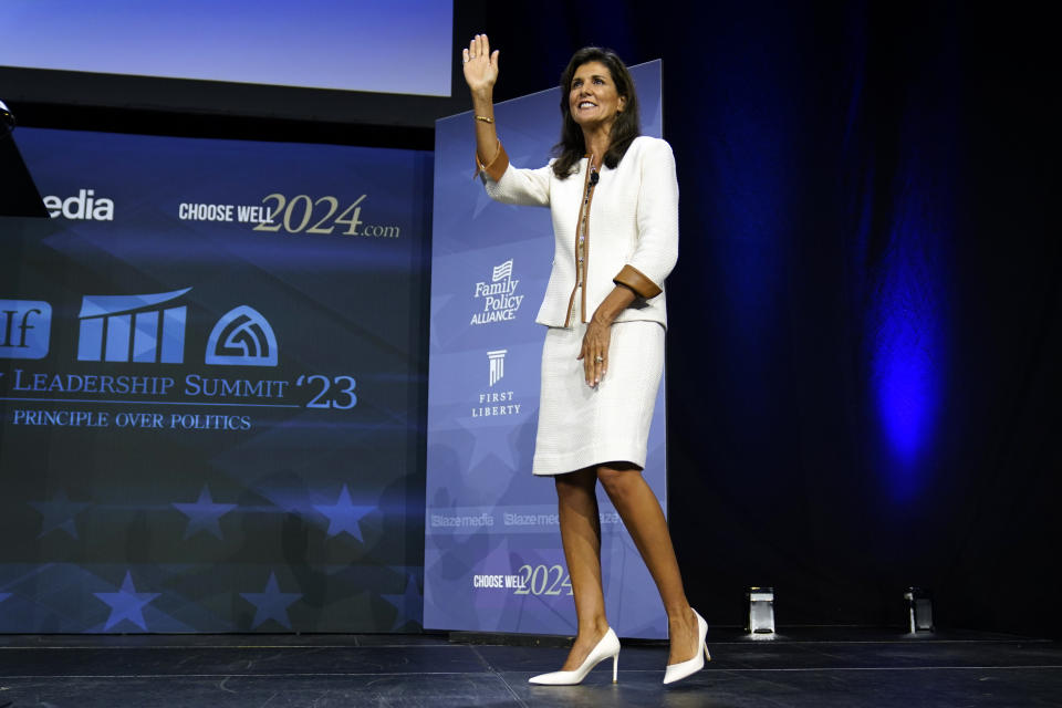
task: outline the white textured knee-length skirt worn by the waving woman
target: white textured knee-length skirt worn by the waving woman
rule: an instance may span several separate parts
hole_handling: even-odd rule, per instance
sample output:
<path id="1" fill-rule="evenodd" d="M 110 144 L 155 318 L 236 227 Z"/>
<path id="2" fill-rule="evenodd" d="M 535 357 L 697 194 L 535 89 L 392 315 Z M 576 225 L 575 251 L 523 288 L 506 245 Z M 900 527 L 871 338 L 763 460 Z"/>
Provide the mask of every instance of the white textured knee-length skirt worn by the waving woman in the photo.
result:
<path id="1" fill-rule="evenodd" d="M 603 462 L 645 467 L 653 406 L 664 372 L 664 326 L 615 322 L 608 373 L 586 385 L 576 360 L 585 324 L 550 327 L 542 347 L 542 395 L 534 441 L 535 475 L 563 475 Z"/>

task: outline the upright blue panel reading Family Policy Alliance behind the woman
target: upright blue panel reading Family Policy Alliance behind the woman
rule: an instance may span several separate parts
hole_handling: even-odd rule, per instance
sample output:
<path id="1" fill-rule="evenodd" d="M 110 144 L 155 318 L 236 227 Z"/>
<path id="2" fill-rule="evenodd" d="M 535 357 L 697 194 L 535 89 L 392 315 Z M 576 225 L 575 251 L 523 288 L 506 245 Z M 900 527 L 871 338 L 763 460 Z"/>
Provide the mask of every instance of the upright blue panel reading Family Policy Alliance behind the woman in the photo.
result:
<path id="1" fill-rule="evenodd" d="M 632 73 L 643 132 L 659 137 L 660 62 Z M 551 90 L 496 106 L 513 165 L 549 160 L 559 98 Z M 531 475 L 550 212 L 494 204 L 472 179 L 471 113 L 438 121 L 435 145 L 425 627 L 572 634 L 553 481 Z M 664 413 L 660 386 L 645 477 L 662 503 Z M 666 636 L 656 587 L 607 497 L 598 500 L 610 621 L 623 636 Z"/>

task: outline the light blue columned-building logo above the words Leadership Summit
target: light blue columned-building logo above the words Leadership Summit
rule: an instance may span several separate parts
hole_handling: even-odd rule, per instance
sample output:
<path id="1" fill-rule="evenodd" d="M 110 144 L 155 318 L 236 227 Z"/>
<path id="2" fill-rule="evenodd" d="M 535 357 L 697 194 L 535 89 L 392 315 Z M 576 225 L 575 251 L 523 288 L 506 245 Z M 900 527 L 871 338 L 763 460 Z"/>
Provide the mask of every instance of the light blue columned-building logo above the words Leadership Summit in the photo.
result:
<path id="1" fill-rule="evenodd" d="M 191 288 L 147 295 L 85 295 L 81 301 L 80 362 L 183 364 L 185 305 L 158 308 Z"/>

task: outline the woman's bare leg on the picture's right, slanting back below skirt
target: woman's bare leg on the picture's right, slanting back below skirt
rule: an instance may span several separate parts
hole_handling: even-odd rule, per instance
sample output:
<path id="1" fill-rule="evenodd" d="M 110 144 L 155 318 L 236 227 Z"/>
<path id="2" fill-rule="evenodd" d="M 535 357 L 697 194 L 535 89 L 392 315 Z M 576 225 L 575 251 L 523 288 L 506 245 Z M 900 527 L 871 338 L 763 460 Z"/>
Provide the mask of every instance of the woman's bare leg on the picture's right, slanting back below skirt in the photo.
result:
<path id="1" fill-rule="evenodd" d="M 643 479 L 642 470 L 631 462 L 602 465 L 597 468 L 597 479 L 620 512 L 664 601 L 671 643 L 667 663 L 677 664 L 693 658 L 700 650 L 697 646 L 697 620 L 686 600 L 671 534 L 656 494 Z"/>

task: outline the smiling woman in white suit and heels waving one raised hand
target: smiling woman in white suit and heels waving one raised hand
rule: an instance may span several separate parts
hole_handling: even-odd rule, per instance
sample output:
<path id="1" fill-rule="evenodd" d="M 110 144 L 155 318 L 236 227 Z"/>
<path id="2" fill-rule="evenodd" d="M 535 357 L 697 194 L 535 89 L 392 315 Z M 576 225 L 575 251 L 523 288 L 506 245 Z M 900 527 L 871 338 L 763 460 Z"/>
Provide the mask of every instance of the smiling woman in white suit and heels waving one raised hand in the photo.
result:
<path id="1" fill-rule="evenodd" d="M 586 48 L 561 77 L 558 158 L 534 170 L 512 167 L 494 128 L 498 51 L 478 34 L 462 54 L 488 192 L 507 204 L 550 207 L 556 237 L 537 317 L 550 329 L 532 471 L 556 485 L 579 628 L 561 670 L 531 683 L 579 684 L 607 658 L 616 679 L 620 641 L 601 586 L 598 481 L 664 601 L 670 637 L 664 683 L 676 681 L 704 667 L 708 627 L 686 601 L 664 512 L 642 478 L 664 365 L 662 285 L 678 256 L 671 149 L 638 135 L 637 96 L 620 58 Z"/>

